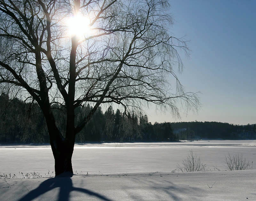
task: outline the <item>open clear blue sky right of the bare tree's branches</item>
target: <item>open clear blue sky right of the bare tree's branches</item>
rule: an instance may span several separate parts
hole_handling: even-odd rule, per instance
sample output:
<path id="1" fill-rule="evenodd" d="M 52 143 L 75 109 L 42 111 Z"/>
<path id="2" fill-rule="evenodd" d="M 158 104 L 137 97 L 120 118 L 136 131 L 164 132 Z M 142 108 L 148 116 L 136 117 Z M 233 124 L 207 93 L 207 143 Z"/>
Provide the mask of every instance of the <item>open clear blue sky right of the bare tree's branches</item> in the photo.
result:
<path id="1" fill-rule="evenodd" d="M 190 40 L 190 58 L 179 75 L 186 91 L 198 92 L 202 108 L 181 119 L 147 110 L 154 122 L 256 123 L 256 1 L 170 0 L 171 32 Z"/>

